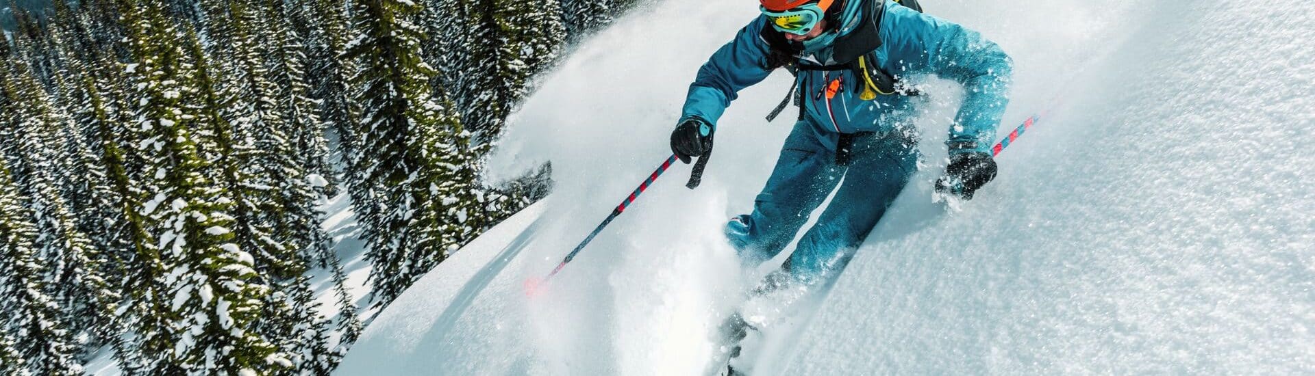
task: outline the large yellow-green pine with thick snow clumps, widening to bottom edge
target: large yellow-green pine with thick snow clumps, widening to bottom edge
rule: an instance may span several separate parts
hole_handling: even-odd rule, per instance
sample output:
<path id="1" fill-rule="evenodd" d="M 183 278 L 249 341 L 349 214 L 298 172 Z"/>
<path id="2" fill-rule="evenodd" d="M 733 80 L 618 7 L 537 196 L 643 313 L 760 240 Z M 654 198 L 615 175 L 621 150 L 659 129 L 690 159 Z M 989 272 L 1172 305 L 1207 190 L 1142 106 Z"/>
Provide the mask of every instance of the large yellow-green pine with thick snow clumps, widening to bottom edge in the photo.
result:
<path id="1" fill-rule="evenodd" d="M 137 343 L 151 375 L 266 373 L 291 362 L 252 326 L 270 287 L 260 283 L 250 254 L 231 243 L 234 202 L 203 172 L 197 151 L 195 67 L 188 41 L 166 21 L 158 1 L 135 4 L 130 18 L 135 62 L 130 68 L 137 117 L 145 142 L 139 153 L 153 171 L 145 181 L 153 197 L 142 205 L 158 239 L 143 268 L 158 279 L 145 289 Z M 154 258 L 154 260 L 153 260 Z"/>

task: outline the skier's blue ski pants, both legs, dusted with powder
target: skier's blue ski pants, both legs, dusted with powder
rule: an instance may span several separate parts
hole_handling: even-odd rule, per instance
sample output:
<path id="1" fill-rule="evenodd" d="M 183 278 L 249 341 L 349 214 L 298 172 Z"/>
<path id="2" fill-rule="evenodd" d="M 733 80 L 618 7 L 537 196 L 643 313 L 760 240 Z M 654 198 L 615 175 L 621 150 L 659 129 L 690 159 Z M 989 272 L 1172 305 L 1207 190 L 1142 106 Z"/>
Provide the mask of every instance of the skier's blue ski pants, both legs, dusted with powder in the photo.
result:
<path id="1" fill-rule="evenodd" d="M 755 267 L 780 254 L 839 184 L 785 262 L 784 270 L 805 284 L 844 268 L 909 183 L 918 160 L 915 137 L 897 130 L 853 134 L 848 158 L 842 151 L 836 163 L 838 143 L 844 147 L 844 142 L 838 142 L 840 134 L 819 129 L 807 118 L 794 125 L 753 213 L 726 223 L 731 246 L 746 266 Z"/>

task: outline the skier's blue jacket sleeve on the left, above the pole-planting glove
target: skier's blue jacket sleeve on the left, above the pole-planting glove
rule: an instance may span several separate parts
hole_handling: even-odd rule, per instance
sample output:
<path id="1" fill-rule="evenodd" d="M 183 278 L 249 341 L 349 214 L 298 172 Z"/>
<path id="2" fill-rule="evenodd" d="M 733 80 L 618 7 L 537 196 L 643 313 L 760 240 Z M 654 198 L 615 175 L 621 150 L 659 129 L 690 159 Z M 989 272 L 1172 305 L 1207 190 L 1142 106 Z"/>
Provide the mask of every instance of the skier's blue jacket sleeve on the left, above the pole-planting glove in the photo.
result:
<path id="1" fill-rule="evenodd" d="M 707 63 L 698 68 L 698 76 L 685 96 L 680 122 L 697 116 L 715 126 L 740 89 L 772 74 L 765 68 L 767 42 L 759 37 L 764 20 L 759 17 L 740 29 L 735 39 L 713 53 Z"/>

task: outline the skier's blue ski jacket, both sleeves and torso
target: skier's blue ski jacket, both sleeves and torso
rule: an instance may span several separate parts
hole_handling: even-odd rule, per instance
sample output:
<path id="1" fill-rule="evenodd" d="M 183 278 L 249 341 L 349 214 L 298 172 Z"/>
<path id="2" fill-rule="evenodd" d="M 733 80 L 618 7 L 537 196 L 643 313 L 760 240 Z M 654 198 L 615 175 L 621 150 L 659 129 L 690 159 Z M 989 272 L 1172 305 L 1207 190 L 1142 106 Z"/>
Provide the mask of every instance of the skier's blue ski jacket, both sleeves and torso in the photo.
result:
<path id="1" fill-rule="evenodd" d="M 884 14 L 863 14 L 865 12 L 859 11 L 859 3 L 864 1 L 846 1 L 842 26 L 827 33 L 844 35 L 853 32 L 863 17 L 881 17 L 877 28 L 882 43 L 869 57 L 898 80 L 907 82 L 913 75 L 928 74 L 961 83 L 965 97 L 949 126 L 949 153 L 989 153 L 995 126 L 1009 103 L 1013 71 L 1009 55 L 980 33 L 957 24 L 892 0 L 868 1 L 884 1 Z M 769 46 L 760 37 L 763 28 L 771 25 L 765 16 L 759 16 L 698 70 L 689 87 L 681 121 L 697 116 L 715 126 L 740 89 L 767 79 L 771 74 L 767 64 Z M 830 45 L 814 50 L 800 57 L 801 60 L 822 66 L 835 63 L 830 60 Z M 801 70 L 796 83 L 800 85 L 803 116 L 819 128 L 819 137 L 826 138 L 834 138 L 827 133 L 890 131 L 894 124 L 882 121 L 882 114 L 907 103 L 907 96 L 901 93 L 861 100 L 859 95 L 864 89 L 864 78 L 851 70 Z M 839 89 L 827 93 L 828 87 Z M 831 141 L 825 143 L 834 147 Z"/>

